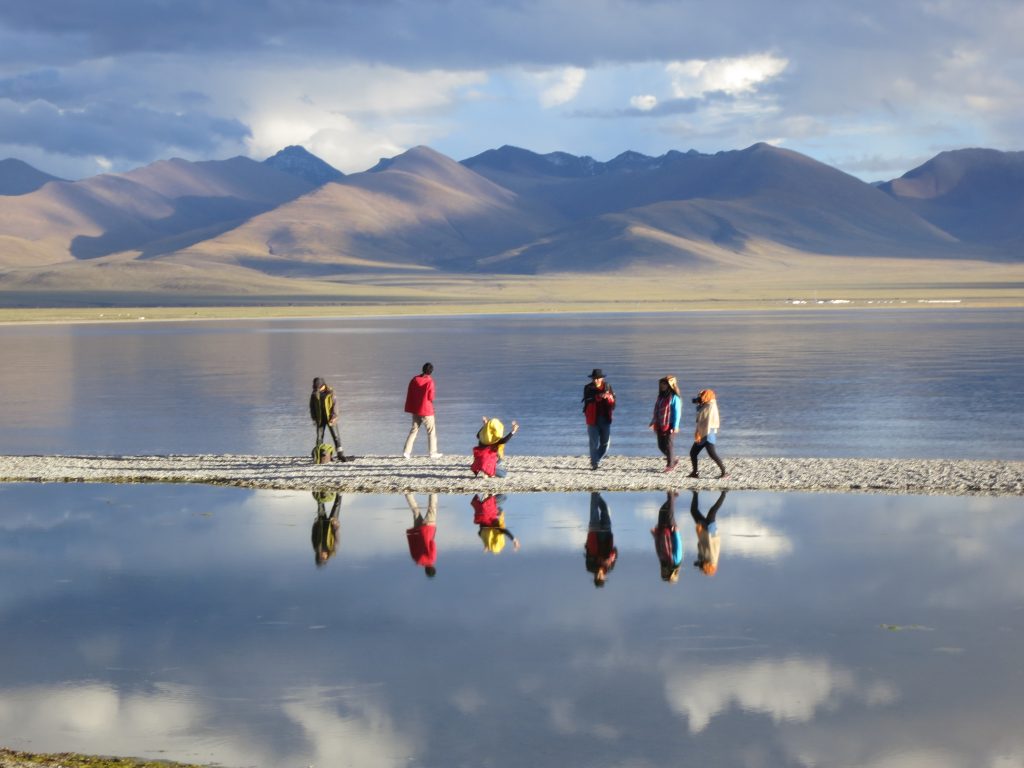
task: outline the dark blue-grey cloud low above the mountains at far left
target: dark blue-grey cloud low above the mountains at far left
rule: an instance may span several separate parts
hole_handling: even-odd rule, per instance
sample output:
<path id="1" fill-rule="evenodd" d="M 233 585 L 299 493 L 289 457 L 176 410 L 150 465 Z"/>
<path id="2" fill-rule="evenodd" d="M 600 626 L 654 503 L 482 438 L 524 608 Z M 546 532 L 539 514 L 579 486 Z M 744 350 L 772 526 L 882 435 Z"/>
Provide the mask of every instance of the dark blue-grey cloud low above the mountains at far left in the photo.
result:
<path id="1" fill-rule="evenodd" d="M 60 110 L 45 101 L 18 105 L 0 100 L 0 143 L 73 157 L 147 162 L 169 147 L 202 154 L 248 135 L 237 120 L 202 113 L 176 115 L 117 103 Z"/>

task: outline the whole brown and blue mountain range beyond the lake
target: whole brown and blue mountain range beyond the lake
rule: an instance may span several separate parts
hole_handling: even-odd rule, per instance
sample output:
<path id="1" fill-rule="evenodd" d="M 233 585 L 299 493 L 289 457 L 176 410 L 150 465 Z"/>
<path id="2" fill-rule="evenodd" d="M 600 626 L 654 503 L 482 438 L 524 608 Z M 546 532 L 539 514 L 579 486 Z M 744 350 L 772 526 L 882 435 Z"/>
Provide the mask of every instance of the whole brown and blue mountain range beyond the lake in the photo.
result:
<path id="1" fill-rule="evenodd" d="M 1024 153 L 868 184 L 759 143 L 608 162 L 417 146 L 342 174 L 298 146 L 79 181 L 0 161 L 0 292 L 315 291 L 352 275 L 722 271 L 796 256 L 1024 263 Z"/>

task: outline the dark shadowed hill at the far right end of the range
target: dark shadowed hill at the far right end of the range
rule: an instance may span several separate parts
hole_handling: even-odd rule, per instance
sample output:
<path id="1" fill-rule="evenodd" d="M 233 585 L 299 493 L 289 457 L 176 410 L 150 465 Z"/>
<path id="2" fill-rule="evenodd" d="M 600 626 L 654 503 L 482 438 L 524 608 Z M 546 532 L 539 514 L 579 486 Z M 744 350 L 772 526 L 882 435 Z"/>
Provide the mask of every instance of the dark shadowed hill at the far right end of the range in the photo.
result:
<path id="1" fill-rule="evenodd" d="M 1024 257 L 1024 152 L 944 152 L 879 188 L 962 243 Z"/>

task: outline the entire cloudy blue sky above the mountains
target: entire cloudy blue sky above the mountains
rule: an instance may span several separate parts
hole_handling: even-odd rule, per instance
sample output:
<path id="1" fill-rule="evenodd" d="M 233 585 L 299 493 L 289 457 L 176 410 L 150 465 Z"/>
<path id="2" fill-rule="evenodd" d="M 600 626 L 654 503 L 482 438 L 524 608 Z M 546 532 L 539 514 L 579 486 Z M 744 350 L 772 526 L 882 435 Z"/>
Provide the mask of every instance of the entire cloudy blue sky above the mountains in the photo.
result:
<path id="1" fill-rule="evenodd" d="M 0 159 L 767 141 L 882 180 L 1024 150 L 1022 40 L 1024 0 L 0 0 Z"/>

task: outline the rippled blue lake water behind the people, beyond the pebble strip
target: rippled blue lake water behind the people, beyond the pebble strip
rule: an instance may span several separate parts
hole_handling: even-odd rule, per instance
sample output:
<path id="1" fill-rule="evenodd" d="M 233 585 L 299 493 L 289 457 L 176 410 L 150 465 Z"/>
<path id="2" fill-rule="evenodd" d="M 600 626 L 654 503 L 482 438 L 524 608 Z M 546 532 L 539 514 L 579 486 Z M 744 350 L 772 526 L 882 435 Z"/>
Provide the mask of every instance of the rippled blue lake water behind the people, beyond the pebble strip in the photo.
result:
<path id="1" fill-rule="evenodd" d="M 303 455 L 324 376 L 346 450 L 396 455 L 430 360 L 450 454 L 484 415 L 519 420 L 516 452 L 586 453 L 597 367 L 618 394 L 613 453 L 656 453 L 672 373 L 687 406 L 718 392 L 724 457 L 1024 459 L 1022 331 L 1022 310 L 961 308 L 5 327 L 0 452 Z"/>

